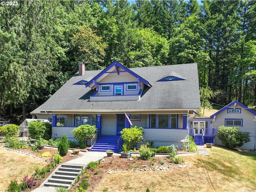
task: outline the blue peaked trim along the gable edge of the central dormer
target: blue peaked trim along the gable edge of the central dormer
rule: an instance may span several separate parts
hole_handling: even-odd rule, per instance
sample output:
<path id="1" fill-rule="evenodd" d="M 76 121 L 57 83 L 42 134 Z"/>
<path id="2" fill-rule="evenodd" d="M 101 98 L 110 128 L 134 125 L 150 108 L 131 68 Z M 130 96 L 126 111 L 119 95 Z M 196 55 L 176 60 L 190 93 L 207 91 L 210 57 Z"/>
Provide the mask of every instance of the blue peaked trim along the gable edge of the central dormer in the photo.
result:
<path id="1" fill-rule="evenodd" d="M 112 68 L 113 66 L 119 66 L 120 68 L 122 68 L 123 70 L 125 70 L 126 72 L 130 73 L 132 76 L 139 78 L 142 82 L 144 82 L 144 84 L 146 84 L 147 86 L 151 87 L 152 85 L 146 81 L 144 78 L 138 76 L 136 73 L 132 72 L 130 69 L 124 67 L 123 65 L 121 65 L 120 63 L 118 63 L 117 61 L 114 61 L 112 64 L 110 64 L 107 68 L 105 68 L 102 72 L 100 72 L 98 75 L 96 75 L 94 78 L 92 78 L 92 80 L 90 80 L 87 84 L 86 87 L 90 86 L 93 81 L 96 81 L 100 76 L 102 76 L 104 73 L 108 72 L 108 70 L 110 70 L 110 68 Z"/>

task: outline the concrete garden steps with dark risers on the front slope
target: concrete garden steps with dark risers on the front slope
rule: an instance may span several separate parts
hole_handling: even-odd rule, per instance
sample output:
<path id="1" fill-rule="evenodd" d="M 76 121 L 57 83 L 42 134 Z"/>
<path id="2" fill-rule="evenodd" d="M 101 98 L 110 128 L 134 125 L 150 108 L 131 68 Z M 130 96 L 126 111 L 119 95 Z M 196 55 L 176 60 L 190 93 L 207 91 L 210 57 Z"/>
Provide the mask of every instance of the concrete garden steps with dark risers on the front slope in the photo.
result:
<path id="1" fill-rule="evenodd" d="M 44 186 L 63 187 L 70 189 L 84 165 L 61 164 L 44 182 Z"/>

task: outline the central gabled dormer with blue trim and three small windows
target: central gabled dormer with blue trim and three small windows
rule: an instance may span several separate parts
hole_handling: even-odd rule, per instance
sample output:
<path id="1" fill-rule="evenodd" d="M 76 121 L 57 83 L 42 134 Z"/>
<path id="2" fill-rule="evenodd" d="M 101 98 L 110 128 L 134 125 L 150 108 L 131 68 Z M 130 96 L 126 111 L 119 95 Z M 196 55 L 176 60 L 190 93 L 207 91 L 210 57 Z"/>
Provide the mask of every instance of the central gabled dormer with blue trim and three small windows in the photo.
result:
<path id="1" fill-rule="evenodd" d="M 144 86 L 150 83 L 117 61 L 92 78 L 86 87 L 96 91 L 90 101 L 140 100 Z"/>

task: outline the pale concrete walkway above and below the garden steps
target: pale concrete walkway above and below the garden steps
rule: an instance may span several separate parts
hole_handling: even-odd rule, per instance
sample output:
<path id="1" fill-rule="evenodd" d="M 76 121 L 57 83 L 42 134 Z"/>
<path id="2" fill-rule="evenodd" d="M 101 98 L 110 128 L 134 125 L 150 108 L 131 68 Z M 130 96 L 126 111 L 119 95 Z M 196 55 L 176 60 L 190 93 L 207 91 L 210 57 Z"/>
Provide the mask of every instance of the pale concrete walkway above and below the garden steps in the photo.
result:
<path id="1" fill-rule="evenodd" d="M 84 165 L 87 166 L 87 164 L 91 161 L 98 161 L 104 157 L 106 157 L 106 152 L 79 152 L 81 154 L 83 154 L 83 156 L 75 158 L 73 160 L 70 160 L 68 162 L 65 162 L 65 164 L 73 164 L 73 165 Z M 51 175 L 49 176 L 51 177 Z M 46 179 L 48 180 L 49 177 Z M 34 190 L 32 190 L 33 192 L 55 192 L 56 188 L 55 187 L 46 187 L 43 186 L 44 183 L 42 183 L 42 185 Z"/>

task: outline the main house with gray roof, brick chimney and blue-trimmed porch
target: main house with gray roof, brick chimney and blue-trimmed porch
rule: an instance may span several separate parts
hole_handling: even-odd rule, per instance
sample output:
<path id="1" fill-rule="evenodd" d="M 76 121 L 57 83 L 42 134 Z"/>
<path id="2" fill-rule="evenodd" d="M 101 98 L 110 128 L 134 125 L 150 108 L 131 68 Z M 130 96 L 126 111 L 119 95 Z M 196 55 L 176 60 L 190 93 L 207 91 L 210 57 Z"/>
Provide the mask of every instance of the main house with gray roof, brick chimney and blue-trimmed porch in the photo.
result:
<path id="1" fill-rule="evenodd" d="M 91 124 L 98 140 L 118 140 L 131 126 L 125 112 L 155 147 L 182 146 L 188 120 L 200 109 L 197 64 L 126 68 L 115 61 L 104 70 L 84 68 L 79 62 L 79 72 L 31 112 L 52 122 L 52 137 L 72 140 L 75 127 Z"/>

